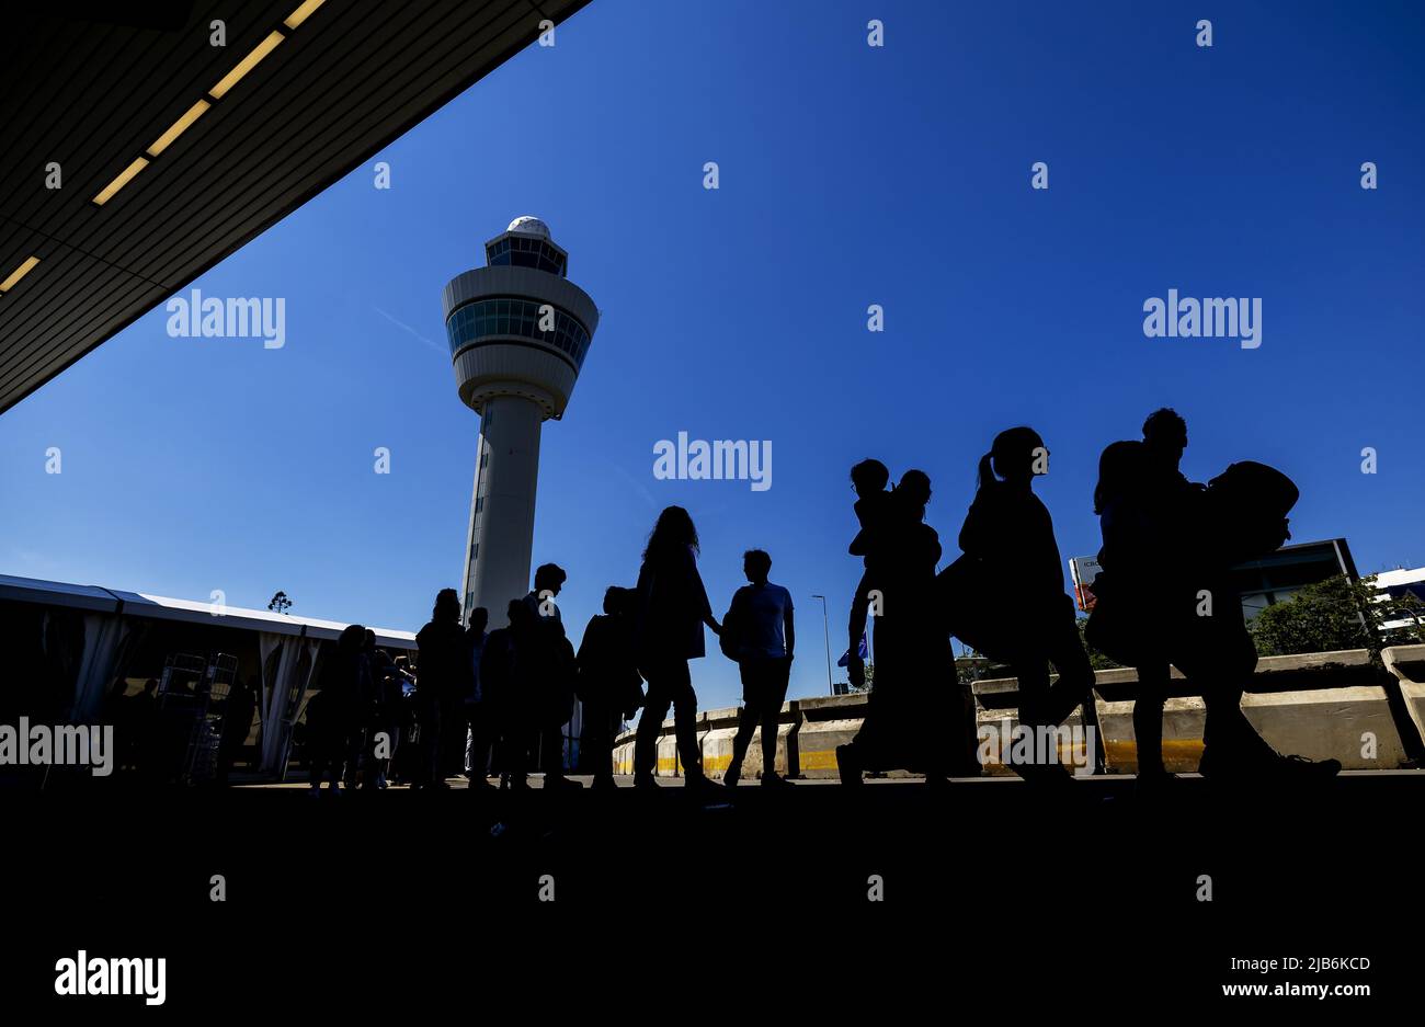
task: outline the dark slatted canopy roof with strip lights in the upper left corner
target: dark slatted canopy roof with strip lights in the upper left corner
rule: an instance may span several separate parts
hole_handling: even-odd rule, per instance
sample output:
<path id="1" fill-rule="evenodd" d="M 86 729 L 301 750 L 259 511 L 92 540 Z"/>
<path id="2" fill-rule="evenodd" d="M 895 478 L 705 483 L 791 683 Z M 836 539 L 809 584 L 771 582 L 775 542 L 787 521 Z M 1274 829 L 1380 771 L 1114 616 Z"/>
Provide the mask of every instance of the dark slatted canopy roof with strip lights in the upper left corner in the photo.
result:
<path id="1" fill-rule="evenodd" d="M 0 412 L 587 1 L 7 7 Z"/>

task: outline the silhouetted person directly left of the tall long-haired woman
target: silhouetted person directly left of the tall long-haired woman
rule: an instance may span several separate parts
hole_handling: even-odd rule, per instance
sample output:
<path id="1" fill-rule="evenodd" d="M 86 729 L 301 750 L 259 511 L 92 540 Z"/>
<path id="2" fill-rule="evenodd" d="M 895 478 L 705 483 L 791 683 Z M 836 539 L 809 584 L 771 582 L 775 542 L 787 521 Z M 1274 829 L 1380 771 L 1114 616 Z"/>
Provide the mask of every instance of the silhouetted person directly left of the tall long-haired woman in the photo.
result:
<path id="1" fill-rule="evenodd" d="M 583 751 L 594 768 L 594 791 L 614 788 L 614 736 L 643 705 L 634 630 L 638 593 L 610 585 L 604 612 L 589 618 L 579 642 L 579 699 L 584 704 Z"/>

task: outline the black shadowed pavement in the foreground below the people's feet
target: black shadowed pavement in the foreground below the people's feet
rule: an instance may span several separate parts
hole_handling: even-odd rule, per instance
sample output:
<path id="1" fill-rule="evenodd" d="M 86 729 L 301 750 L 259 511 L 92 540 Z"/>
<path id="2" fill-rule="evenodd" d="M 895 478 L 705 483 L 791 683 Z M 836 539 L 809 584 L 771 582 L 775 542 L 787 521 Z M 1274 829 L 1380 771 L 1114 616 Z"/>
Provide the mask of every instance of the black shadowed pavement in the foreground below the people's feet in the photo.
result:
<path id="1" fill-rule="evenodd" d="M 1208 1000 L 1291 1016 L 1305 999 L 1224 1000 L 1223 984 L 1368 984 L 1367 1000 L 1314 1001 L 1374 1004 L 1425 973 L 1422 799 L 1421 772 L 1297 789 L 1184 778 L 1153 801 L 1131 778 L 1052 795 L 1013 779 L 744 782 L 707 801 L 673 782 L 11 792 L 0 990 L 53 1001 L 56 960 L 86 949 L 167 957 L 162 1008 L 83 1010 L 145 1020 L 390 1004 L 423 1010 L 415 1023 L 517 1008 L 683 1023 L 754 1001 L 901 1020 L 902 1000 L 925 1016 Z M 1312 971 L 1312 957 L 1369 969 Z"/>

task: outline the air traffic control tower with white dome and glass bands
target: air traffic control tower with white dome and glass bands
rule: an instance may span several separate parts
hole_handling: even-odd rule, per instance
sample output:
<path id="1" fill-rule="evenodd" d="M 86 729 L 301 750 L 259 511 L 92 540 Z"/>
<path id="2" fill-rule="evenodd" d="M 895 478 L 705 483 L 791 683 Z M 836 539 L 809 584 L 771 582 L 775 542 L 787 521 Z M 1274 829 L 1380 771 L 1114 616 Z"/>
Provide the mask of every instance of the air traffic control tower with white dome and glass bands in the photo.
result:
<path id="1" fill-rule="evenodd" d="M 460 399 L 480 415 L 463 614 L 486 607 L 496 628 L 530 590 L 540 426 L 564 416 L 598 309 L 539 218 L 512 221 L 484 256 L 446 283 L 443 305 Z"/>

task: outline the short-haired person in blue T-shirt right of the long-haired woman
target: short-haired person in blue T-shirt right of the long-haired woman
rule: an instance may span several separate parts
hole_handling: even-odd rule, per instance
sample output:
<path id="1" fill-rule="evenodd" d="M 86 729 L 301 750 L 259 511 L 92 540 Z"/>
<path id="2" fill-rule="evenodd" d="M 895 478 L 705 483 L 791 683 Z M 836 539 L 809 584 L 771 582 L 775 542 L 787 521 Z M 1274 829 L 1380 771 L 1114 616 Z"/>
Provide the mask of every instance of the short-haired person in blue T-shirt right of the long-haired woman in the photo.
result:
<path id="1" fill-rule="evenodd" d="M 772 558 L 762 550 L 742 554 L 742 573 L 751 584 L 732 594 L 722 618 L 724 648 L 735 637 L 737 665 L 742 677 L 742 709 L 732 738 L 732 762 L 722 783 L 735 786 L 742 776 L 742 759 L 752 732 L 762 729 L 762 783 L 787 785 L 777 773 L 777 722 L 787 701 L 797 632 L 792 625 L 792 594 L 767 580 Z"/>

